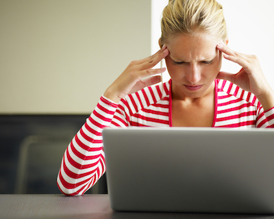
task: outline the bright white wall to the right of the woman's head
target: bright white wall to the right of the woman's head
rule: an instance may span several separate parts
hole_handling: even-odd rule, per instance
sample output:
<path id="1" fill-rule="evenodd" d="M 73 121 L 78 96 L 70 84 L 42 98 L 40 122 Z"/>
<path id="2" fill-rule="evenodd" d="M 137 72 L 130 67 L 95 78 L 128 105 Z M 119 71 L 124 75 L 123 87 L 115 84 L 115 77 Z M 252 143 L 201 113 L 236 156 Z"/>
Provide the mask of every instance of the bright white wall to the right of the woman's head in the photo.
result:
<path id="1" fill-rule="evenodd" d="M 274 89 L 273 0 L 219 0 L 223 5 L 229 47 L 240 53 L 257 55 L 266 79 Z M 238 64 L 224 60 L 222 70 L 237 73 Z"/>

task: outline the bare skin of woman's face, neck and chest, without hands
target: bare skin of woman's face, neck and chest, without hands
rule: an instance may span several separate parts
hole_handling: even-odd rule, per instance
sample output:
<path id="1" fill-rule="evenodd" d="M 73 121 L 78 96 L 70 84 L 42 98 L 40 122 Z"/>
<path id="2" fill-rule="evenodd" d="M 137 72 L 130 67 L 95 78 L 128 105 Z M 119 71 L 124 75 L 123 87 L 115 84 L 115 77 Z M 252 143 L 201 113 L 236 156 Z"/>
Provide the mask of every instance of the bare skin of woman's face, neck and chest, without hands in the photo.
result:
<path id="1" fill-rule="evenodd" d="M 197 31 L 178 34 L 166 44 L 166 66 L 172 81 L 172 124 L 177 127 L 211 127 L 214 120 L 214 88 L 222 53 L 214 36 Z M 209 104 L 210 103 L 210 104 Z"/>

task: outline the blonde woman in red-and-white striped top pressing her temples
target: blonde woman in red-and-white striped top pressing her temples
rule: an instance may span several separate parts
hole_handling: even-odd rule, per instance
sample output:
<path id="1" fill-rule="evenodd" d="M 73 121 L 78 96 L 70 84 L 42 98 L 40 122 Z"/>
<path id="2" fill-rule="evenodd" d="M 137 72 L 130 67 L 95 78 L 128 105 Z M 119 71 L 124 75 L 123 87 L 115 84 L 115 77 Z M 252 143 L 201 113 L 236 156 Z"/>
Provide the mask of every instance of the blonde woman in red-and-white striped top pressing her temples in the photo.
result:
<path id="1" fill-rule="evenodd" d="M 219 3 L 170 0 L 162 17 L 162 49 L 130 63 L 105 90 L 64 153 L 60 190 L 84 194 L 103 175 L 104 127 L 274 127 L 274 93 L 258 58 L 232 51 L 227 43 Z M 223 57 L 240 64 L 240 72 L 220 72 Z M 155 75 L 166 70 L 152 69 L 162 59 L 171 80 L 153 85 L 161 81 Z"/>

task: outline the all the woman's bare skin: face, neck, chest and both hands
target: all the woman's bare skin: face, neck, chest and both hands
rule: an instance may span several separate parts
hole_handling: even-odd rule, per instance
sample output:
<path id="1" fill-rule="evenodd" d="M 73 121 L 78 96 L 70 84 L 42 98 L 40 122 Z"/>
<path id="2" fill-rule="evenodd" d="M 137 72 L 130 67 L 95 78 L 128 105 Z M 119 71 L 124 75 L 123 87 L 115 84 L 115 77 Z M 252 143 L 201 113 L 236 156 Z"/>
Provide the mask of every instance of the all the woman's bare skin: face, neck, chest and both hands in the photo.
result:
<path id="1" fill-rule="evenodd" d="M 203 31 L 197 31 L 194 36 L 178 34 L 154 55 L 131 62 L 105 90 L 104 96 L 119 103 L 127 94 L 159 83 L 159 74 L 166 69 L 152 68 L 165 58 L 173 80 L 173 126 L 212 126 L 215 78 L 232 81 L 253 92 L 265 111 L 274 107 L 274 92 L 262 73 L 258 57 L 233 51 L 227 43 L 228 40 L 223 42 Z M 220 72 L 222 57 L 239 64 L 242 70 Z"/>

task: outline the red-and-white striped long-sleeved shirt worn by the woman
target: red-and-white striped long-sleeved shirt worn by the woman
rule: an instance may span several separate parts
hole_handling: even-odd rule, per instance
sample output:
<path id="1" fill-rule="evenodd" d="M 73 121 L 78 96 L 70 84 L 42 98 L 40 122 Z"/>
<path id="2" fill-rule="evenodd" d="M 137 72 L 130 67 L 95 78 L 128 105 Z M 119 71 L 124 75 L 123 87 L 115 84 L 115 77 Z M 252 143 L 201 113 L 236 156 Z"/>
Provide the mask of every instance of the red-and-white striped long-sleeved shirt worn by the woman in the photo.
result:
<path id="1" fill-rule="evenodd" d="M 57 179 L 61 192 L 84 194 L 105 172 L 104 127 L 171 127 L 171 101 L 171 80 L 129 94 L 119 104 L 101 96 L 64 153 Z M 265 112 L 254 94 L 216 79 L 212 127 L 274 127 L 274 107 Z"/>

